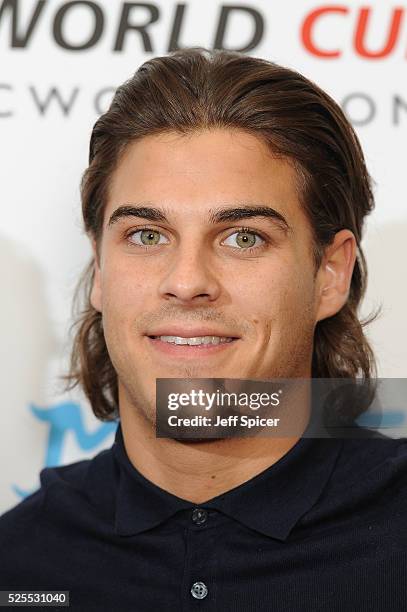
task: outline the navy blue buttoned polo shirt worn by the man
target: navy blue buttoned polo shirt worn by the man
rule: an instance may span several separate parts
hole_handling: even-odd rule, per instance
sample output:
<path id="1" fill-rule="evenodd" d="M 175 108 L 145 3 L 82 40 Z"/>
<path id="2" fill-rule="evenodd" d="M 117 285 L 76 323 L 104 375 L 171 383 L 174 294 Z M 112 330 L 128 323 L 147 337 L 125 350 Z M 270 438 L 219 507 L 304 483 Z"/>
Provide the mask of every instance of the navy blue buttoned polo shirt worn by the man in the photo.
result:
<path id="1" fill-rule="evenodd" d="M 120 425 L 40 478 L 0 517 L 0 590 L 84 612 L 407 609 L 406 439 L 303 438 L 199 506 L 134 468 Z"/>

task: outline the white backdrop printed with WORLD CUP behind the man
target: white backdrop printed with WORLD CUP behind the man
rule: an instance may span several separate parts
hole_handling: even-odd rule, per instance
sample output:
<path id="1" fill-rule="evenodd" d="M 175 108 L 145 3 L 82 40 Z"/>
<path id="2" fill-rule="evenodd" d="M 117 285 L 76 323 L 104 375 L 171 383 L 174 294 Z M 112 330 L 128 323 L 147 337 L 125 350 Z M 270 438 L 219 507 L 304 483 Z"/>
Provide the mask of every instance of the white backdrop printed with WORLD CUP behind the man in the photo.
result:
<path id="1" fill-rule="evenodd" d="M 92 126 L 113 89 L 171 39 L 213 47 L 216 34 L 225 48 L 303 72 L 354 124 L 376 181 L 363 312 L 382 304 L 369 331 L 380 375 L 406 375 L 407 4 L 0 0 L 0 513 L 38 486 L 45 465 L 113 441 L 114 428 L 57 379 L 90 256 L 79 181 Z"/>

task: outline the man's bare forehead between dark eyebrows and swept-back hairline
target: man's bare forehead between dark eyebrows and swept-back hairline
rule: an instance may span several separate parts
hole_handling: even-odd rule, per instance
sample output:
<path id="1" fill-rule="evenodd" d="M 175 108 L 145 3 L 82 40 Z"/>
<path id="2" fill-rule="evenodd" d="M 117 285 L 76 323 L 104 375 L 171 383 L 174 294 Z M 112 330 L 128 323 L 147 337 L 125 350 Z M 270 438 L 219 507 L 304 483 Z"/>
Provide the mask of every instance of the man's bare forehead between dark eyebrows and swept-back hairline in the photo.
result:
<path id="1" fill-rule="evenodd" d="M 292 222 L 307 223 L 292 165 L 242 130 L 175 132 L 131 143 L 112 175 L 105 220 L 123 204 L 148 202 L 173 220 L 204 218 L 215 206 L 272 205 Z"/>

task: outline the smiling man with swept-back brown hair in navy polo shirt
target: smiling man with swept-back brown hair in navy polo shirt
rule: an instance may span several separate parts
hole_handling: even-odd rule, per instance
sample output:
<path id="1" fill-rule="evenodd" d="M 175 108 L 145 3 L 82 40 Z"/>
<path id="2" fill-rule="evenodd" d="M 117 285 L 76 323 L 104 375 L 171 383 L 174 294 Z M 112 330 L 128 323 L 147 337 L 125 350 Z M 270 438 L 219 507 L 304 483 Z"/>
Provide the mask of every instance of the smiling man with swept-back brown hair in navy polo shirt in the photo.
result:
<path id="1" fill-rule="evenodd" d="M 120 423 L 2 517 L 1 588 L 75 610 L 405 609 L 405 440 L 155 430 L 158 378 L 374 376 L 373 197 L 340 108 L 265 60 L 154 58 L 95 124 L 82 203 L 70 381 Z"/>

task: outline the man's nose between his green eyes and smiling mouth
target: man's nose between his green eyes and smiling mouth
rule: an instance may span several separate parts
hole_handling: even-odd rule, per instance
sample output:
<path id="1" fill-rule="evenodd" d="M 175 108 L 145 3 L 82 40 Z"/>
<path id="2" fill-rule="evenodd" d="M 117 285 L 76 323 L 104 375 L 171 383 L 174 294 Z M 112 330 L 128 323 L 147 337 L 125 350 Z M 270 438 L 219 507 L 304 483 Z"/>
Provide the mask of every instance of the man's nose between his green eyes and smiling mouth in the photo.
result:
<path id="1" fill-rule="evenodd" d="M 188 302 L 212 302 L 220 294 L 220 280 L 211 270 L 210 256 L 201 246 L 185 244 L 173 253 L 162 279 L 159 292 L 167 300 Z"/>

